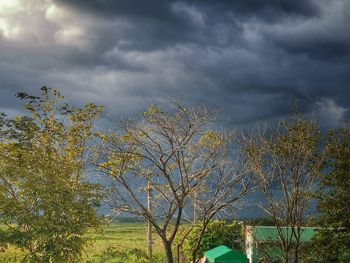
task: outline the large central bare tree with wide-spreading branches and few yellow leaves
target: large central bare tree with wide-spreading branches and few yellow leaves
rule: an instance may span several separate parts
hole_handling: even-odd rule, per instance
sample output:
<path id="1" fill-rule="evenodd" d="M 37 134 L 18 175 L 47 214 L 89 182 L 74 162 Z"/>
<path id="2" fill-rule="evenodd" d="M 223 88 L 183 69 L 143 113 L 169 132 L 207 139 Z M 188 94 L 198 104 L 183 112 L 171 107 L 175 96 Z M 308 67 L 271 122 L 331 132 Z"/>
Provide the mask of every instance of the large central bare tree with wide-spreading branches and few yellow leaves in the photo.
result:
<path id="1" fill-rule="evenodd" d="M 102 135 L 98 166 L 114 179 L 115 210 L 147 219 L 172 263 L 173 242 L 194 196 L 210 220 L 237 199 L 232 187 L 241 181 L 227 158 L 231 136 L 212 128 L 216 112 L 170 105 L 151 105 L 141 119 L 121 121 L 115 132 Z"/>

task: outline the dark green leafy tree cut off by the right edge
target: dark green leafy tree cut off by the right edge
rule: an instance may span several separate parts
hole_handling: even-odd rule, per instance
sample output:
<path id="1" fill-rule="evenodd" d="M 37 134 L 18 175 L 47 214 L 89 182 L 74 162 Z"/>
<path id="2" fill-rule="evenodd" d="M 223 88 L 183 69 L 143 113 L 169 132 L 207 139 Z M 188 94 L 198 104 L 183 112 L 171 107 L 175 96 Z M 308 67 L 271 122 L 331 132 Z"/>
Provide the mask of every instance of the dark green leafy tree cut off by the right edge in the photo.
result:
<path id="1" fill-rule="evenodd" d="M 308 247 L 307 262 L 350 262 L 350 129 L 331 131 L 326 169 L 317 193 L 322 228 Z"/>

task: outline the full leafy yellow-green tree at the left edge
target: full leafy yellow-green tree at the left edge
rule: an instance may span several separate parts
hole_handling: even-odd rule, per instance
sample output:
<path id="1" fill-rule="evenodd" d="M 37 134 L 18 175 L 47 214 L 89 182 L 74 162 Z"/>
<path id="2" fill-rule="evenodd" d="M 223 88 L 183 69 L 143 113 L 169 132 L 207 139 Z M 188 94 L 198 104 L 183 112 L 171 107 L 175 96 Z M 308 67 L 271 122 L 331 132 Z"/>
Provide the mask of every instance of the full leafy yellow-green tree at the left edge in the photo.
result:
<path id="1" fill-rule="evenodd" d="M 82 235 L 99 221 L 100 187 L 84 171 L 102 108 L 61 105 L 59 91 L 41 90 L 41 97 L 18 94 L 29 117 L 1 117 L 0 222 L 7 226 L 1 241 L 24 249 L 24 262 L 76 262 Z"/>

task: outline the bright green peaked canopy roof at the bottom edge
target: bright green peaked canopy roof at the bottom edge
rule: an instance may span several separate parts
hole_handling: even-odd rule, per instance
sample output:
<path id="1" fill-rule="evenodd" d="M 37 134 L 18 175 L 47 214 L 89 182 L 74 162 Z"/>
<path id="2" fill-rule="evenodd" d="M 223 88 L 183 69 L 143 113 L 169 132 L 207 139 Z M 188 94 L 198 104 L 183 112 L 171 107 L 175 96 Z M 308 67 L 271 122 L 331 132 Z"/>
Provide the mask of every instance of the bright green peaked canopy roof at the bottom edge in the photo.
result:
<path id="1" fill-rule="evenodd" d="M 211 263 L 246 263 L 248 258 L 236 249 L 230 249 L 224 245 L 204 252 L 204 256 Z"/>

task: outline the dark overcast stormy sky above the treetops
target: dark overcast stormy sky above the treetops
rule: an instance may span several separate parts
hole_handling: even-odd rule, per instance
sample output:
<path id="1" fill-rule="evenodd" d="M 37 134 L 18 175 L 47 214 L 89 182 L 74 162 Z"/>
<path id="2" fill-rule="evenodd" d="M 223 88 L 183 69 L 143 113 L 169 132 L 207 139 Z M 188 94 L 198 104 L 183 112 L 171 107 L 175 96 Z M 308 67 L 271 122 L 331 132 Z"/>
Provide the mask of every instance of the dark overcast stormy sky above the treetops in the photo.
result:
<path id="1" fill-rule="evenodd" d="M 0 0 L 0 111 L 59 88 L 128 114 L 170 96 L 233 123 L 350 108 L 349 0 Z"/>

